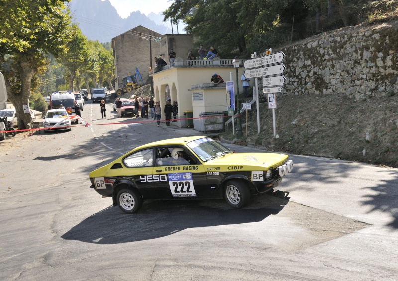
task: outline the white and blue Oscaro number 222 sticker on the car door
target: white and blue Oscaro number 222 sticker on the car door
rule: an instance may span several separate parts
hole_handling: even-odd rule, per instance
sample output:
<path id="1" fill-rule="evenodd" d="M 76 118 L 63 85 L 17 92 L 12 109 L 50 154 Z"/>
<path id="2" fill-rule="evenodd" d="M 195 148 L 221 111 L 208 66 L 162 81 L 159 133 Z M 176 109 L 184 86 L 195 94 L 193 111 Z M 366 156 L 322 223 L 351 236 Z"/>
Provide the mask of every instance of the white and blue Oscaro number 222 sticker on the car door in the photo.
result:
<path id="1" fill-rule="evenodd" d="M 170 173 L 168 179 L 173 197 L 196 197 L 191 172 Z"/>

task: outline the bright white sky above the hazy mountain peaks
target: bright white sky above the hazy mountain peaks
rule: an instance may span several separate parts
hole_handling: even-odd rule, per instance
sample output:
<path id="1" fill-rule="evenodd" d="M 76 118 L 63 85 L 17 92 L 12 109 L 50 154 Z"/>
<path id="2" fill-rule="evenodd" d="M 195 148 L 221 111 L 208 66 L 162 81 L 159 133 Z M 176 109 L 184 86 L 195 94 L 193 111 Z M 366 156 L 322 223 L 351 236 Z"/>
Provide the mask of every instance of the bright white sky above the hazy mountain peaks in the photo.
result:
<path id="1" fill-rule="evenodd" d="M 102 2 L 105 0 L 102 0 Z M 127 18 L 131 12 L 140 11 L 148 15 L 165 11 L 173 1 L 169 0 L 108 0 L 122 18 Z"/>

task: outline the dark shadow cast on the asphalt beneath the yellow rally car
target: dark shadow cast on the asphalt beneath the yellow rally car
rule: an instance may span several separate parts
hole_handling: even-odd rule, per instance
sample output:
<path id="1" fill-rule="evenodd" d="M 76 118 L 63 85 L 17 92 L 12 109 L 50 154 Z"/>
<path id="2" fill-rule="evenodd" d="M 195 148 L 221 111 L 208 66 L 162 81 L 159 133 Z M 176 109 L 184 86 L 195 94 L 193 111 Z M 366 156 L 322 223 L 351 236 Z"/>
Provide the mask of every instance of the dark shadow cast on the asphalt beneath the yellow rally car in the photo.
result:
<path id="1" fill-rule="evenodd" d="M 119 244 L 171 235 L 188 228 L 259 222 L 278 214 L 289 202 L 286 192 L 254 196 L 248 207 L 230 209 L 223 200 L 145 201 L 128 215 L 108 207 L 74 226 L 61 238 L 97 244 Z M 266 207 L 264 207 L 266 206 Z"/>

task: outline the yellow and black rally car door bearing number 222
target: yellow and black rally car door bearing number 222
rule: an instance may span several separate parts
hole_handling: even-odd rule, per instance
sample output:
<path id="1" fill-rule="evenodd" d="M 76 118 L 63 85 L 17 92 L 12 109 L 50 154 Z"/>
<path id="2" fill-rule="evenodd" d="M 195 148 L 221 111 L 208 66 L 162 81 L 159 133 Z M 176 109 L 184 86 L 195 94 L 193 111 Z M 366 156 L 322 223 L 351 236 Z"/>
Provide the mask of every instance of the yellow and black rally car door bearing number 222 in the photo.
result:
<path id="1" fill-rule="evenodd" d="M 176 148 L 183 150 L 184 158 L 173 158 Z M 207 185 L 203 164 L 187 149 L 173 145 L 159 146 L 155 148 L 155 159 L 154 176 L 167 176 L 167 182 L 156 183 L 164 192 L 164 198 L 211 198 L 211 187 Z"/>

